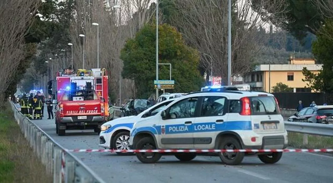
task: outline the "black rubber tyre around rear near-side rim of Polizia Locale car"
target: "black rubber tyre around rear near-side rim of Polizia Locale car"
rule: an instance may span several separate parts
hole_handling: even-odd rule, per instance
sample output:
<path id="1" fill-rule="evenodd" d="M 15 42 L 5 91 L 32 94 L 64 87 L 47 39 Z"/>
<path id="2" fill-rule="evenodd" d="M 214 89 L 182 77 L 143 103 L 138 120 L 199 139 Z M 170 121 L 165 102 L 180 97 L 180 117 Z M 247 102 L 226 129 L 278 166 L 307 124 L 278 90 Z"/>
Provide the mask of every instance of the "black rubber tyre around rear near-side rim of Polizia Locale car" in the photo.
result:
<path id="1" fill-rule="evenodd" d="M 242 149 L 242 146 L 238 142 L 238 140 L 234 137 L 222 137 L 221 143 L 219 144 L 218 149 L 225 149 L 224 146 L 228 143 L 231 143 L 235 146 L 235 149 Z M 221 161 L 227 165 L 239 165 L 245 156 L 244 152 L 237 152 L 236 157 L 232 160 L 223 156 L 223 153 L 218 154 Z"/>

